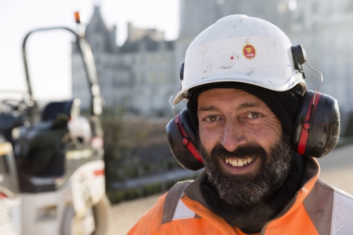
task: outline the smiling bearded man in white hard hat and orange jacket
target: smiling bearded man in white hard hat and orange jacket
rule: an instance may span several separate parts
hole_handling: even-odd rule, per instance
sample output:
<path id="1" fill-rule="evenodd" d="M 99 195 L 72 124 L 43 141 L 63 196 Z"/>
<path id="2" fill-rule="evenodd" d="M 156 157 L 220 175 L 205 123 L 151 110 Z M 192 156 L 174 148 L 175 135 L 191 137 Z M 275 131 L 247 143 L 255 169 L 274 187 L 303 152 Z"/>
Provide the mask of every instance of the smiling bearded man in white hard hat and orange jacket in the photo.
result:
<path id="1" fill-rule="evenodd" d="M 311 157 L 335 147 L 340 118 L 332 97 L 306 92 L 305 61 L 258 18 L 227 16 L 201 32 L 174 100 L 187 110 L 167 131 L 179 163 L 205 171 L 162 195 L 129 234 L 353 234 L 352 196 L 318 179 Z"/>

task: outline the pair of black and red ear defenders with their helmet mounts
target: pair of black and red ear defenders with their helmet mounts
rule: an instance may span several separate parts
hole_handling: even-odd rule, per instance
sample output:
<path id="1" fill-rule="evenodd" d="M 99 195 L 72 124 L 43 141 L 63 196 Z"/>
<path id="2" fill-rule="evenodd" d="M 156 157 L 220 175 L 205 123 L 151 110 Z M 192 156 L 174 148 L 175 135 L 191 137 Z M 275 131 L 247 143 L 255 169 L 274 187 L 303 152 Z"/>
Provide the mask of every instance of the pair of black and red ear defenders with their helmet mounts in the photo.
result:
<path id="1" fill-rule="evenodd" d="M 296 69 L 303 73 L 303 65 L 316 71 L 306 63 L 306 53 L 301 44 L 292 47 L 292 54 Z M 321 83 L 323 82 L 322 74 Z M 184 78 L 184 64 L 180 71 L 181 80 Z M 318 86 L 318 88 L 320 85 Z M 292 147 L 300 155 L 306 157 L 324 157 L 337 145 L 340 138 L 340 111 L 337 100 L 318 92 L 308 90 L 301 98 L 291 138 Z M 199 155 L 198 138 L 191 125 L 189 111 L 182 110 L 167 124 L 169 147 L 182 167 L 197 171 L 203 168 L 203 161 Z"/>

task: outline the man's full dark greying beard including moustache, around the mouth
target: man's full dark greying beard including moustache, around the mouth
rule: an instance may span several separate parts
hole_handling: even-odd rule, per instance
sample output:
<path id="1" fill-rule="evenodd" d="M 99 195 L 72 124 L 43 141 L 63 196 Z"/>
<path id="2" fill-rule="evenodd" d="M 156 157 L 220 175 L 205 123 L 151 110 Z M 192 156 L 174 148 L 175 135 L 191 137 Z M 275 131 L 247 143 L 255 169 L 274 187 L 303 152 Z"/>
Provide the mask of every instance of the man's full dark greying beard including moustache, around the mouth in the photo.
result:
<path id="1" fill-rule="evenodd" d="M 218 143 L 210 155 L 201 143 L 199 146 L 210 183 L 220 198 L 231 205 L 254 205 L 260 200 L 268 200 L 287 179 L 294 158 L 294 151 L 285 137 L 273 145 L 269 153 L 257 143 L 240 145 L 234 152 L 228 152 Z M 255 174 L 230 174 L 220 166 L 220 159 L 227 157 L 260 157 L 261 166 Z"/>

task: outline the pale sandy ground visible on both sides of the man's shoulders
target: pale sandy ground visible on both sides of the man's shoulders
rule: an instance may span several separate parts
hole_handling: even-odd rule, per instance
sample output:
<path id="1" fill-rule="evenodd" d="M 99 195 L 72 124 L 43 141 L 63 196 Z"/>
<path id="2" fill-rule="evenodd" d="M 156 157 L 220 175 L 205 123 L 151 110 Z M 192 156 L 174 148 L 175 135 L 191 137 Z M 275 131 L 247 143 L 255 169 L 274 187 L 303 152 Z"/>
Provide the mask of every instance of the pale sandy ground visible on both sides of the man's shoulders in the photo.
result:
<path id="1" fill-rule="evenodd" d="M 353 145 L 335 149 L 330 155 L 318 159 L 320 178 L 326 183 L 353 195 Z M 138 219 L 155 204 L 162 194 L 131 200 L 113 206 L 113 227 L 109 235 L 126 234 Z"/>

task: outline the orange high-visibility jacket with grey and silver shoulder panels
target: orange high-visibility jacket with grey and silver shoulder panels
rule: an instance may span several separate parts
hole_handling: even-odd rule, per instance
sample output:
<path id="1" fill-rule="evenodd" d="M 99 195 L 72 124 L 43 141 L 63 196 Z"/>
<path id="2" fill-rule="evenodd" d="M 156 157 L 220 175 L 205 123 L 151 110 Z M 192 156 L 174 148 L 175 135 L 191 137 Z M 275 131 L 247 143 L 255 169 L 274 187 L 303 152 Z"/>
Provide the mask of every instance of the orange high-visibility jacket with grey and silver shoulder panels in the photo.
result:
<path id="1" fill-rule="evenodd" d="M 282 212 L 265 224 L 260 234 L 353 234 L 352 195 L 318 179 L 318 162 L 305 159 L 302 187 Z M 128 234 L 243 235 L 240 229 L 208 209 L 198 187 L 200 179 L 174 185 Z"/>

